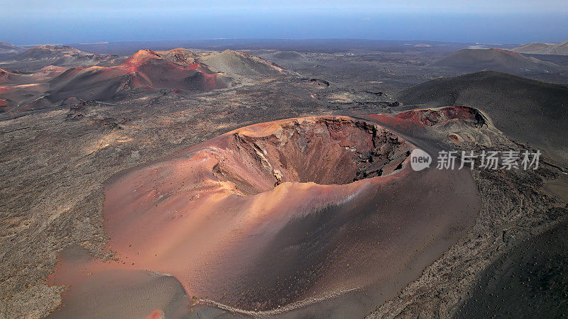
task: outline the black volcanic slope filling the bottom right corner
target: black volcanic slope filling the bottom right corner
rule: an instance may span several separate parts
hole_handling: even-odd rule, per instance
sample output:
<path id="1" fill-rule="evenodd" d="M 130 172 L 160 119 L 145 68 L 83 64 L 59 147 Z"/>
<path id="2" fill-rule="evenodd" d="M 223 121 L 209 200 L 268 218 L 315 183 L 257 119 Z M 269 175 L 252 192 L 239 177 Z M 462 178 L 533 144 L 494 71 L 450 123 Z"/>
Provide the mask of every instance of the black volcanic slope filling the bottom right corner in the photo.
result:
<path id="1" fill-rule="evenodd" d="M 476 281 L 457 318 L 564 317 L 568 313 L 567 235 L 564 222 L 506 252 Z"/>

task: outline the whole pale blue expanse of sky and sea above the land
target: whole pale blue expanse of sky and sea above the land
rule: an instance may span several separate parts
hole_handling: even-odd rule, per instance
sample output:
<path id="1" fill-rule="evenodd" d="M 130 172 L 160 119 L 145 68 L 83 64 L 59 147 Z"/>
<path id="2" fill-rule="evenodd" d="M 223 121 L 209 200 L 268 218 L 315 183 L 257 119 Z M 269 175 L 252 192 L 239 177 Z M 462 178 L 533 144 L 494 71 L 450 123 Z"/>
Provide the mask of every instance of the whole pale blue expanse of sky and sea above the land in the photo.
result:
<path id="1" fill-rule="evenodd" d="M 567 0 L 0 0 L 16 45 L 214 38 L 568 40 Z"/>

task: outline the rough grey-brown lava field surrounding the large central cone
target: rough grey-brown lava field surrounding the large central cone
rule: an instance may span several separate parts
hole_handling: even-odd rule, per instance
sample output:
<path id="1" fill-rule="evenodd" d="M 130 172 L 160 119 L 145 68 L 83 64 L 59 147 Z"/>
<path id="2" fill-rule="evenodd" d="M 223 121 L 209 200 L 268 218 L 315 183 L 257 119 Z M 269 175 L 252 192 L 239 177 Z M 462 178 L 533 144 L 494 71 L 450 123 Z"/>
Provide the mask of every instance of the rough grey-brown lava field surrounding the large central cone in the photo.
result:
<path id="1" fill-rule="evenodd" d="M 194 44 L 196 52 L 221 51 L 215 45 Z M 464 75 L 464 70 L 434 65 L 468 47 L 397 43 L 381 49 L 344 43 L 318 51 L 305 43 L 241 44 L 234 48 L 297 76 L 186 95 L 160 90 L 120 101 L 82 100 L 0 113 L 0 316 L 42 318 L 61 306 L 65 286 L 50 285 L 48 277 L 66 248 L 80 246 L 102 260 L 114 257 L 105 248 L 109 237 L 103 228 L 103 188 L 119 172 L 254 123 L 454 104 L 481 111 L 494 126 L 491 134 L 488 125 L 471 128 L 467 134 L 487 133 L 487 140 L 461 145 L 447 133 L 459 133 L 463 126 L 432 128 L 427 137 L 438 147 L 539 149 L 544 152 L 541 165 L 535 171 L 474 169 L 481 198 L 474 225 L 433 264 L 401 284 L 404 288 L 395 296 L 364 301 L 376 302 L 368 318 L 545 318 L 568 313 L 568 76 Z M 79 48 L 116 54 L 119 61 L 125 52 L 132 53 L 130 47 Z M 6 62 L 14 55 L 3 57 L 0 68 L 21 66 L 21 61 Z M 565 59 L 554 62 L 560 69 L 567 67 Z M 34 68 L 43 66 L 33 62 Z M 412 132 L 402 133 L 412 137 Z M 318 309 L 291 315 L 318 316 Z M 189 316 L 234 315 L 199 305 L 195 310 Z"/>

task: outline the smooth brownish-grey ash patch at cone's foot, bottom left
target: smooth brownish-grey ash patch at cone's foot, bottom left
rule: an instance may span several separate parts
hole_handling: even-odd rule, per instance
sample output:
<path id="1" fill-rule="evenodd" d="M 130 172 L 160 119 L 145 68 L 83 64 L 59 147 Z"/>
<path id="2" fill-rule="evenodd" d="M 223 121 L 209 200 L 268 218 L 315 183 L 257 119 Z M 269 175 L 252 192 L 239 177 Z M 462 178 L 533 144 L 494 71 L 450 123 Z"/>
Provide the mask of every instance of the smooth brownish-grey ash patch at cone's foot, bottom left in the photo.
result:
<path id="1" fill-rule="evenodd" d="M 108 266 L 83 247 L 62 250 L 48 282 L 73 284 L 49 318 L 187 318 L 189 300 L 172 276 Z"/>

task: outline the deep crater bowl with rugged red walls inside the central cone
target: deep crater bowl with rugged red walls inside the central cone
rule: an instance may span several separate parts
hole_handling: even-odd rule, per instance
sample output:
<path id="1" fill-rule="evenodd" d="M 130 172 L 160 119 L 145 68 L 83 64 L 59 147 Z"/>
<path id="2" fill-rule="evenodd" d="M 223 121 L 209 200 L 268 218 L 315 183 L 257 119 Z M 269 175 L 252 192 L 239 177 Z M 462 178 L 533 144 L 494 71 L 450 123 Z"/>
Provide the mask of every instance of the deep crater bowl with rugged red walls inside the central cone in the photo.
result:
<path id="1" fill-rule="evenodd" d="M 214 175 L 242 194 L 286 181 L 349 184 L 391 174 L 402 168 L 411 149 L 385 128 L 346 117 L 261 123 L 234 131 L 224 142 L 234 155 L 218 154 Z"/>

